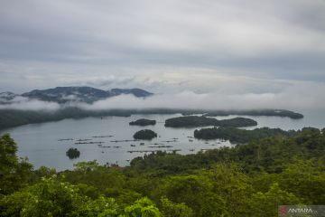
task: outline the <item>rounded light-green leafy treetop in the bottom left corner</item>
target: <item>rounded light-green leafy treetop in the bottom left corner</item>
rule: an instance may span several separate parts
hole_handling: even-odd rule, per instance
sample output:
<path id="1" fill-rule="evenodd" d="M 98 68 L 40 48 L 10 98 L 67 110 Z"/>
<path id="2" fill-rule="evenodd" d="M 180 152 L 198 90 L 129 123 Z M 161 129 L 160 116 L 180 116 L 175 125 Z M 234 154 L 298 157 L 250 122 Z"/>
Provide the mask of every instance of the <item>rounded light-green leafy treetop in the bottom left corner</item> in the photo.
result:
<path id="1" fill-rule="evenodd" d="M 21 199 L 17 201 L 17 199 Z M 0 202 L 2 216 L 64 216 L 72 215 L 82 204 L 78 189 L 54 179 L 6 196 Z"/>

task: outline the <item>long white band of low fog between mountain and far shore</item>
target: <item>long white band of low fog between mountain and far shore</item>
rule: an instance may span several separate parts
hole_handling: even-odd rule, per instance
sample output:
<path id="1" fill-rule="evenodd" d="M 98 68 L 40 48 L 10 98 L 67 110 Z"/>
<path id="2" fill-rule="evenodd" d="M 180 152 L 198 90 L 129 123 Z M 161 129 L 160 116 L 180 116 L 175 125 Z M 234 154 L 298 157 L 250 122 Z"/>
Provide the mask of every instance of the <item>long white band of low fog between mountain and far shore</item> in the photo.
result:
<path id="1" fill-rule="evenodd" d="M 67 107 L 86 110 L 106 109 L 325 109 L 325 87 L 315 83 L 289 86 L 282 92 L 270 93 L 195 93 L 156 94 L 148 98 L 120 95 L 98 100 L 92 104 L 71 102 L 60 105 L 36 99 L 16 97 L 0 109 L 47 110 Z"/>

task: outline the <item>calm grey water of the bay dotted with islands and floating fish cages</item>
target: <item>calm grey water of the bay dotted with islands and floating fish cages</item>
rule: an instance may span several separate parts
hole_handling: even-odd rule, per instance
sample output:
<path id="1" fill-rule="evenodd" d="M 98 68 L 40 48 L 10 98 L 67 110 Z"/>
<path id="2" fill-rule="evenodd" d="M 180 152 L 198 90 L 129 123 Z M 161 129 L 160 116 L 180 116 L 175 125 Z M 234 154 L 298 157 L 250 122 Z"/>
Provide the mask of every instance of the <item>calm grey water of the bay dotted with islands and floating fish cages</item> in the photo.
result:
<path id="1" fill-rule="evenodd" d="M 281 127 L 283 129 L 300 129 L 302 127 L 325 127 L 325 116 L 323 110 L 302 111 L 305 118 L 277 118 L 277 117 L 247 117 L 258 122 L 257 127 Z M 133 115 L 124 117 L 106 118 L 82 118 L 64 119 L 61 121 L 47 122 L 42 124 L 31 124 L 21 127 L 6 129 L 0 134 L 10 133 L 18 144 L 18 155 L 27 156 L 35 168 L 45 165 L 54 167 L 58 171 L 72 169 L 73 165 L 80 161 L 97 160 L 99 164 L 128 165 L 129 160 L 136 156 L 144 156 L 140 151 L 172 151 L 179 149 L 182 155 L 197 153 L 201 149 L 218 148 L 219 146 L 233 146 L 228 141 L 209 140 L 208 142 L 193 137 L 196 128 L 171 128 L 164 127 L 167 118 L 179 117 L 175 115 Z M 234 118 L 237 116 L 216 117 Z M 155 119 L 155 126 L 138 127 L 129 126 L 129 122 L 138 118 Z M 140 129 L 152 129 L 159 137 L 151 141 L 128 141 L 112 142 L 113 140 L 132 140 L 133 135 Z M 248 127 L 254 128 L 254 127 Z M 113 136 L 113 137 L 102 137 Z M 62 138 L 73 138 L 69 141 L 58 141 Z M 174 139 L 177 138 L 177 139 Z M 103 142 L 98 144 L 79 144 L 77 139 L 91 139 L 90 142 Z M 88 142 L 89 142 L 88 141 Z M 172 141 L 172 142 L 166 142 Z M 143 146 L 140 143 L 144 142 Z M 157 145 L 158 144 L 158 145 Z M 131 146 L 135 145 L 135 146 Z M 119 146 L 119 147 L 114 147 Z M 172 147 L 157 147 L 172 146 Z M 80 156 L 77 159 L 69 159 L 66 151 L 70 147 L 77 147 Z M 133 153 L 130 153 L 133 151 Z M 136 151 L 136 152 L 134 152 Z"/>

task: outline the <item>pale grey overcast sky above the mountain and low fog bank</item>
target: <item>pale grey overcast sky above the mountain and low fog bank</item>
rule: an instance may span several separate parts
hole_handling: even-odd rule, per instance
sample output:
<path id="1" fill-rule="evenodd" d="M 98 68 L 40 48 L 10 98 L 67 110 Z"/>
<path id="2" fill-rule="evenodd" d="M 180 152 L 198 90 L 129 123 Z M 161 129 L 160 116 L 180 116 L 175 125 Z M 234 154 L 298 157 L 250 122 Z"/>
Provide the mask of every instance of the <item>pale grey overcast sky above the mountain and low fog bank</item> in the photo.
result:
<path id="1" fill-rule="evenodd" d="M 319 97 L 325 1 L 0 1 L 0 91 L 79 85 Z"/>

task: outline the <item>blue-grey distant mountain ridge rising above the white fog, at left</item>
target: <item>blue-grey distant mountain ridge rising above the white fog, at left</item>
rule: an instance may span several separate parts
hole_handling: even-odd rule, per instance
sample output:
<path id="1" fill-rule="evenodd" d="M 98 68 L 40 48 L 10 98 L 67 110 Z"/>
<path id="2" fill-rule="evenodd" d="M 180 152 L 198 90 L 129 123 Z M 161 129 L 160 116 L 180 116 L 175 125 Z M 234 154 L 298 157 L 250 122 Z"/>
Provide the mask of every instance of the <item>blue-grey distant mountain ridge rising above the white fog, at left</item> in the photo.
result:
<path id="1" fill-rule="evenodd" d="M 132 94 L 137 98 L 145 98 L 153 95 L 153 93 L 142 89 L 99 90 L 90 87 L 57 87 L 46 90 L 32 90 L 30 92 L 25 92 L 22 95 L 17 95 L 12 92 L 3 92 L 0 93 L 0 104 L 10 103 L 10 100 L 18 96 L 28 99 L 58 102 L 61 104 L 67 102 L 92 103 L 100 99 L 107 99 L 122 94 Z"/>

